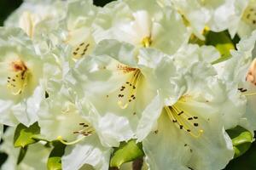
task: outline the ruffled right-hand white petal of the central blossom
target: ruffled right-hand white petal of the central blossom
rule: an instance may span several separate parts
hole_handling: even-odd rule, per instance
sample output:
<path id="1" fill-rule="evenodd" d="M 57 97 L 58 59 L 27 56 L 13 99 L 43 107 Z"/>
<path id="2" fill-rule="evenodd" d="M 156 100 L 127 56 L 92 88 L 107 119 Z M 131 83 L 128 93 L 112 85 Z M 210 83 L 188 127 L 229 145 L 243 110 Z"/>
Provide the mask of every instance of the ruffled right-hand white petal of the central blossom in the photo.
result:
<path id="1" fill-rule="evenodd" d="M 174 104 L 183 93 L 185 85 L 174 60 L 152 48 L 141 49 L 138 59 L 143 74 L 154 89 L 159 89 L 165 105 Z"/>

